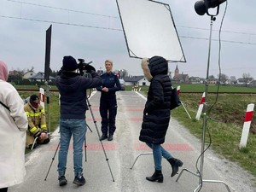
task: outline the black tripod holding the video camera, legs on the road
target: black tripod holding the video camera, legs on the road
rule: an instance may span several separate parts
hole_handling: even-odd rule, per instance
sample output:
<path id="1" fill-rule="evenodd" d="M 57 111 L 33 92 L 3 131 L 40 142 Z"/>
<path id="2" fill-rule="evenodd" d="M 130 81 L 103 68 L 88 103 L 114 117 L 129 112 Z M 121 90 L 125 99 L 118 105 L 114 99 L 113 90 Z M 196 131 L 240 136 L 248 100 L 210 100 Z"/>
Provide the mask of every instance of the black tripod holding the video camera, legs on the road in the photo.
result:
<path id="1" fill-rule="evenodd" d="M 94 117 L 94 114 L 92 113 L 92 109 L 91 109 L 91 105 L 90 105 L 90 102 L 89 102 L 88 97 L 86 97 L 86 102 L 87 102 L 88 107 L 89 107 L 89 109 L 90 109 L 90 114 L 91 114 L 91 117 L 92 117 L 92 119 L 93 119 L 93 122 L 94 122 L 94 124 L 95 124 L 95 126 L 96 126 L 96 131 L 97 131 L 98 137 L 100 138 L 100 137 L 101 137 L 101 136 L 100 136 L 100 132 L 99 132 L 98 127 L 97 127 L 97 125 L 96 125 L 96 119 L 95 119 L 95 117 Z M 87 124 L 86 124 L 86 125 L 87 125 Z M 91 131 L 89 125 L 87 125 L 87 127 L 88 127 L 89 130 Z M 92 132 L 92 131 L 91 131 L 91 132 Z M 103 152 L 104 152 L 104 154 L 105 154 L 105 158 L 106 158 L 107 163 L 108 163 L 108 168 L 109 168 L 109 171 L 110 171 L 110 173 L 111 173 L 111 176 L 112 176 L 112 179 L 113 179 L 113 182 L 114 182 L 113 173 L 112 173 L 112 171 L 111 171 L 111 167 L 109 166 L 108 157 L 107 157 L 105 148 L 104 148 L 103 143 L 102 143 L 101 140 L 100 140 L 100 142 L 101 142 L 101 144 L 102 144 L 102 149 L 103 149 Z M 52 161 L 51 161 L 51 163 L 50 163 L 50 165 L 49 165 L 49 170 L 50 170 L 50 168 L 51 168 L 51 166 L 52 166 L 52 164 L 53 164 L 53 161 L 55 160 L 55 155 L 57 154 L 57 151 L 58 151 L 58 148 L 59 148 L 59 147 L 60 147 L 60 142 L 58 143 L 58 146 L 57 146 L 57 148 L 56 148 L 56 150 L 55 150 L 55 154 L 54 154 L 54 156 L 53 156 L 53 158 L 52 158 Z M 86 145 L 86 137 L 84 136 L 84 154 L 85 154 L 85 161 L 87 160 L 86 148 L 87 148 L 87 145 Z M 44 181 L 46 181 L 46 179 L 47 179 L 47 177 L 48 177 L 48 175 L 49 175 L 49 170 L 48 170 L 48 172 L 47 172 L 47 174 L 46 174 L 46 176 L 45 176 L 45 178 L 44 178 Z"/>

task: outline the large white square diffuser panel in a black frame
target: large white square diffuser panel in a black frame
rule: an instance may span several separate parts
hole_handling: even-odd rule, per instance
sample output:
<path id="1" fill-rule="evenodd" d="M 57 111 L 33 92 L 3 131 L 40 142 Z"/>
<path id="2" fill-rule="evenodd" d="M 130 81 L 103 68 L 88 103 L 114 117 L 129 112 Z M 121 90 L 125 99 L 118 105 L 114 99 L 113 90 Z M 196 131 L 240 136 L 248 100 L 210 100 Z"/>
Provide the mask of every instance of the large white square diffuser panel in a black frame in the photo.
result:
<path id="1" fill-rule="evenodd" d="M 130 57 L 185 62 L 171 9 L 151 0 L 116 0 Z"/>

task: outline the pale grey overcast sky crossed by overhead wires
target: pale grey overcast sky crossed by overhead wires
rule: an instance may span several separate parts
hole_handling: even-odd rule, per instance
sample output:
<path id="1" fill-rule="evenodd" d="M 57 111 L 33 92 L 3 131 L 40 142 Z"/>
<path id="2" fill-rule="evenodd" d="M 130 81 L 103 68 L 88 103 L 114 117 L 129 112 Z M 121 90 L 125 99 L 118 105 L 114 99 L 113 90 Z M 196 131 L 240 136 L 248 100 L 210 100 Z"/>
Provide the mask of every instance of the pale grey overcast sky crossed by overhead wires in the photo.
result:
<path id="1" fill-rule="evenodd" d="M 158 2 L 170 5 L 186 59 L 169 63 L 170 71 L 177 65 L 180 73 L 206 78 L 211 17 L 195 13 L 195 0 Z M 141 60 L 128 54 L 116 0 L 0 0 L 0 4 L 0 60 L 8 64 L 9 70 L 34 67 L 35 72 L 44 72 L 45 34 L 52 25 L 52 70 L 61 68 L 64 55 L 73 55 L 93 61 L 96 69 L 104 68 L 104 61 L 112 59 L 114 70 L 143 74 Z M 215 77 L 219 73 L 218 31 L 225 7 L 226 3 L 220 5 L 212 24 L 209 74 Z M 253 0 L 227 1 L 220 34 L 220 67 L 221 73 L 229 77 L 238 79 L 242 73 L 250 73 L 256 79 L 255 8 Z M 215 12 L 213 9 L 211 13 Z"/>

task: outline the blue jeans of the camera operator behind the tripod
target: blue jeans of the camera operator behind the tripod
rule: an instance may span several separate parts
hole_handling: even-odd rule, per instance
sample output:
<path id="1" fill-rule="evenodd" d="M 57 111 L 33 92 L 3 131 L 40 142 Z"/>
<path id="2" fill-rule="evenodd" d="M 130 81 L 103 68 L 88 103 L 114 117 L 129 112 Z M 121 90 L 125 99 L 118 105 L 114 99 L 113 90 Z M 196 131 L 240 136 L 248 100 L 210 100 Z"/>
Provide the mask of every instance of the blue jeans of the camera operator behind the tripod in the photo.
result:
<path id="1" fill-rule="evenodd" d="M 83 144 L 87 130 L 85 119 L 60 119 L 60 151 L 58 172 L 64 176 L 67 168 L 67 152 L 73 136 L 73 171 L 79 177 L 83 174 Z"/>

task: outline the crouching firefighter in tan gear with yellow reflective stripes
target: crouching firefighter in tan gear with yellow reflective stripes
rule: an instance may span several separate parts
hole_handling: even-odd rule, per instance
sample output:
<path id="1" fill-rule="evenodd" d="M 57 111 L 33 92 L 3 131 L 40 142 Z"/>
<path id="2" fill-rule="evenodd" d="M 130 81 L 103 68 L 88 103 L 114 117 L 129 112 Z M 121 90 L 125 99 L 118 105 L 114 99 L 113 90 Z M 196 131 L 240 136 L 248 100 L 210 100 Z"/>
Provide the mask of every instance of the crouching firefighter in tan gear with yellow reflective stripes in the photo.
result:
<path id="1" fill-rule="evenodd" d="M 30 96 L 29 102 L 27 102 L 24 106 L 24 110 L 28 120 L 28 129 L 26 131 L 26 148 L 32 148 L 32 144 L 36 137 L 38 137 L 38 144 L 49 143 L 44 108 L 39 104 L 38 96 Z"/>

